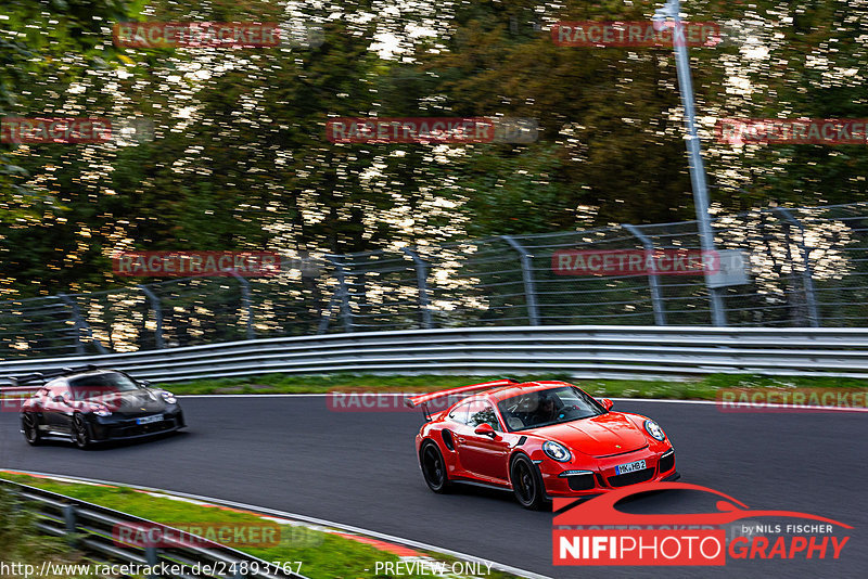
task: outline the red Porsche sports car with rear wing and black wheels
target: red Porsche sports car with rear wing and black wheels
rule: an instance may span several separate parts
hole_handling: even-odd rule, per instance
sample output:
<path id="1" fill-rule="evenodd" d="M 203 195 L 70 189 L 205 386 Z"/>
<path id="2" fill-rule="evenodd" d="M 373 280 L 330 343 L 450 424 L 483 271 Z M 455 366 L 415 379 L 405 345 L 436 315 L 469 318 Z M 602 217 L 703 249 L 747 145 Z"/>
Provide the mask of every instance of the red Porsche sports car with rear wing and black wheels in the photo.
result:
<path id="1" fill-rule="evenodd" d="M 427 404 L 464 397 L 442 412 Z M 512 490 L 522 506 L 593 497 L 649 480 L 675 480 L 675 450 L 654 421 L 613 412 L 566 382 L 501 379 L 409 398 L 425 424 L 419 464 L 434 492 L 455 483 Z"/>

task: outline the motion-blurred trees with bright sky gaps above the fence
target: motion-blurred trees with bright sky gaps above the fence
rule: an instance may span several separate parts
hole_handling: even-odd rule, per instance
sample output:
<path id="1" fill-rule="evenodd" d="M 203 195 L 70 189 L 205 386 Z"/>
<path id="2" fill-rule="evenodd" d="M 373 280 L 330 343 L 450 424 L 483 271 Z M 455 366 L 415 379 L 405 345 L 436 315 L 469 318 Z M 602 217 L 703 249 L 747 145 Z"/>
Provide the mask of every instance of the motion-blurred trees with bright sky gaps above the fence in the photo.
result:
<path id="1" fill-rule="evenodd" d="M 556 46 L 662 2 L 3 0 L 0 116 L 153 123 L 0 144 L 0 297 L 130 283 L 128 249 L 308 256 L 693 219 L 672 48 Z M 726 117 L 868 118 L 868 0 L 686 1 L 712 211 L 866 201 L 865 146 L 714 142 Z M 288 22 L 321 41 L 131 49 L 126 21 Z M 333 116 L 534 117 L 533 144 L 333 144 Z M 132 282 L 137 283 L 137 282 Z"/>

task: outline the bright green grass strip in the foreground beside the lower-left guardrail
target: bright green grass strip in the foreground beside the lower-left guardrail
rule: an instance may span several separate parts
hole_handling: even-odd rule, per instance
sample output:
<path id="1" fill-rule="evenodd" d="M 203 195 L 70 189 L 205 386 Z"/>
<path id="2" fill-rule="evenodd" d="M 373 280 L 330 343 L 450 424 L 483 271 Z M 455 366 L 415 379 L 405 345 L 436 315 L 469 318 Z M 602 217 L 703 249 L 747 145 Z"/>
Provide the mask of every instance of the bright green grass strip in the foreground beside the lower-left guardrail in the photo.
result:
<path id="1" fill-rule="evenodd" d="M 153 497 L 126 487 L 69 484 L 2 472 L 0 472 L 0 478 L 30 485 L 167 525 L 182 523 L 219 523 L 221 525 L 261 524 L 261 519 L 253 514 L 238 513 L 224 509 L 201 506 L 173 499 Z M 0 488 L 0 490 L 2 489 Z M 386 578 L 391 576 L 383 574 L 374 575 L 373 571 L 376 562 L 399 561 L 396 555 L 388 552 L 333 533 L 298 526 L 282 525 L 281 528 L 283 531 L 278 545 L 239 548 L 239 550 L 267 562 L 292 563 L 301 561 L 303 562 L 301 567 L 302 575 L 311 579 L 349 579 L 357 577 Z M 0 526 L 0 529 L 2 529 L 2 526 Z M 0 530 L 0 532 L 2 531 Z M 0 533 L 0 541 L 2 540 L 3 535 Z M 25 540 L 23 544 L 26 544 L 28 541 L 37 545 L 41 545 L 42 542 L 46 542 L 46 544 L 53 544 L 50 543 L 50 539 L 33 535 L 28 535 L 27 540 Z M 35 553 L 41 553 L 41 551 Z M 3 555 L 5 557 L 5 553 L 3 553 Z M 449 563 L 454 561 L 450 557 L 435 553 L 427 555 L 436 561 Z M 293 565 L 292 568 L 296 569 L 297 565 Z M 370 570 L 366 571 L 365 569 Z M 410 579 L 414 577 L 430 578 L 431 575 L 401 575 L 401 577 Z M 513 576 L 493 570 L 492 575 L 487 577 L 492 577 L 493 579 L 507 579 Z"/>

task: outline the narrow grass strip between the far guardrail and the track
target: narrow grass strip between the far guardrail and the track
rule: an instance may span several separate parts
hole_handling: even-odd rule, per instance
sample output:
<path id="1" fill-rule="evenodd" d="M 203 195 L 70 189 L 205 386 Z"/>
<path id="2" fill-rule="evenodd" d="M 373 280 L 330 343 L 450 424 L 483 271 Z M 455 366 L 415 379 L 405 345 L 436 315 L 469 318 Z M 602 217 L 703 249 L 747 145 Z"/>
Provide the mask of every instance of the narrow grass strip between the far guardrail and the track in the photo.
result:
<path id="1" fill-rule="evenodd" d="M 200 379 L 161 384 L 179 395 L 194 394 L 302 394 L 330 390 L 432 391 L 488 382 L 502 376 L 371 374 L 285 375 Z M 519 379 L 519 378 L 516 378 Z M 521 379 L 563 379 L 598 397 L 714 400 L 722 388 L 868 388 L 868 381 L 830 377 L 774 377 L 751 374 L 711 374 L 692 381 L 572 379 L 569 374 L 535 374 Z"/>

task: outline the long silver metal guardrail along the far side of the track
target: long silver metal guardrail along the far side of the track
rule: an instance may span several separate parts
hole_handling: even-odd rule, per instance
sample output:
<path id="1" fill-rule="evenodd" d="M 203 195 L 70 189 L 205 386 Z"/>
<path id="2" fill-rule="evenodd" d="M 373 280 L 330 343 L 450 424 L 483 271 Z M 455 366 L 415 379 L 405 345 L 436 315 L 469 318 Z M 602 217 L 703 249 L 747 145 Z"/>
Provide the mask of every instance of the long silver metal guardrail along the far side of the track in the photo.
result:
<path id="1" fill-rule="evenodd" d="M 0 362 L 0 379 L 80 363 L 152 382 L 268 373 L 712 373 L 868 378 L 868 329 L 503 326 L 329 334 Z"/>

